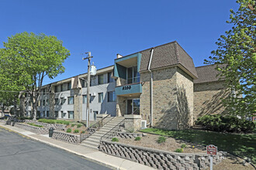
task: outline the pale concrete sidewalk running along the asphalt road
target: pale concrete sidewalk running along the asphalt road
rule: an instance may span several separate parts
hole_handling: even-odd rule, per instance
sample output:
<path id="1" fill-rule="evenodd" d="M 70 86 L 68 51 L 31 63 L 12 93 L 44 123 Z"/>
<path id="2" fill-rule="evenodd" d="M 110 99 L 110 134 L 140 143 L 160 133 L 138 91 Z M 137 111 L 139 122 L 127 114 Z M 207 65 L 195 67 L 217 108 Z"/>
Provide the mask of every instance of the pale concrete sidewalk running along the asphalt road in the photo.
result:
<path id="1" fill-rule="evenodd" d="M 43 142 L 47 145 L 54 146 L 56 148 L 64 149 L 65 151 L 69 151 L 71 153 L 74 153 L 75 155 L 80 155 L 88 159 L 92 162 L 98 162 L 100 164 L 106 165 L 109 168 L 115 168 L 115 169 L 154 169 L 150 168 L 146 165 L 141 165 L 136 162 L 131 162 L 129 160 L 123 159 L 123 158 L 117 158 L 112 155 L 107 155 L 101 151 L 91 149 L 91 148 L 85 148 L 81 145 L 72 145 L 65 143 L 63 141 L 57 141 L 55 139 L 47 137 L 48 135 L 45 134 L 34 134 L 33 132 L 23 130 L 21 128 L 16 128 L 10 125 L 5 125 L 4 123 L 0 122 L 0 127 L 9 129 L 11 131 L 17 132 L 19 134 L 22 134 L 26 137 L 32 138 L 33 140 Z"/>

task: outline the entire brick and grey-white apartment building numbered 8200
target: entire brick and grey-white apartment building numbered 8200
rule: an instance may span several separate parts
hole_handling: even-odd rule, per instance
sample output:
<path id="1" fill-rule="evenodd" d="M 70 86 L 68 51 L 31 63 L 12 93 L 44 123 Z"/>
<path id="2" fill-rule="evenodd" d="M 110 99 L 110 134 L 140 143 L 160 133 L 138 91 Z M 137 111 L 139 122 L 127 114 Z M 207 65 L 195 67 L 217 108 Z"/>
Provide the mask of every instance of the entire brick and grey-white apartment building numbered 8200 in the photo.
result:
<path id="1" fill-rule="evenodd" d="M 136 127 L 185 129 L 197 117 L 222 114 L 222 98 L 230 92 L 215 66 L 194 66 L 178 42 L 117 54 L 114 66 L 97 70 L 90 87 L 90 120 L 97 114 L 126 117 Z M 86 120 L 86 77 L 81 74 L 43 87 L 37 117 Z M 24 110 L 29 112 L 25 97 Z"/>

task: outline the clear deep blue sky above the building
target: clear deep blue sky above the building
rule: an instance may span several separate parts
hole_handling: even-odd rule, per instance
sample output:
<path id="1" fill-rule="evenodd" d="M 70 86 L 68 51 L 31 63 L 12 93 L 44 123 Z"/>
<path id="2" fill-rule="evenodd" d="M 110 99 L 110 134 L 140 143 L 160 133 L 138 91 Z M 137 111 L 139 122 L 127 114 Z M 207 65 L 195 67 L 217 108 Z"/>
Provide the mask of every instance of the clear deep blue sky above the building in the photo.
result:
<path id="1" fill-rule="evenodd" d="M 64 80 L 87 72 L 82 53 L 90 51 L 97 69 L 114 64 L 116 54 L 137 53 L 177 41 L 195 66 L 216 49 L 216 40 L 231 28 L 235 0 L 0 0 L 0 48 L 19 32 L 57 36 L 71 56 Z"/>

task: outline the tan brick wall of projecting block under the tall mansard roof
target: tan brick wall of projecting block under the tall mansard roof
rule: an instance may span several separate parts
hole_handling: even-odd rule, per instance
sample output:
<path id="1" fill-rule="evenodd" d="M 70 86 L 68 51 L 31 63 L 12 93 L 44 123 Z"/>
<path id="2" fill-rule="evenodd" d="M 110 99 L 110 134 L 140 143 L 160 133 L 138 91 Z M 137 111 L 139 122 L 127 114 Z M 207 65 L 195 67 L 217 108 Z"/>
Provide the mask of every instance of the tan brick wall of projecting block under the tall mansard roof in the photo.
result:
<path id="1" fill-rule="evenodd" d="M 150 72 L 141 73 L 140 95 L 142 119 L 150 117 Z M 192 124 L 192 77 L 177 66 L 153 71 L 153 123 L 156 128 L 184 129 Z"/>

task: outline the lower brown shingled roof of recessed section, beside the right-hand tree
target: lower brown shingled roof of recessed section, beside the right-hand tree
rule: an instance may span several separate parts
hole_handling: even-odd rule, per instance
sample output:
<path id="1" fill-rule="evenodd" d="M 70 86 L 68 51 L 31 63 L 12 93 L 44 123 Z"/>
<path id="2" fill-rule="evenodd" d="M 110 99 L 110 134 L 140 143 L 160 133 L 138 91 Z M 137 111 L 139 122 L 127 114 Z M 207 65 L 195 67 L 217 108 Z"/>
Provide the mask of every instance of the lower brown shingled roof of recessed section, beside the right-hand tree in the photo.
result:
<path id="1" fill-rule="evenodd" d="M 195 67 L 195 70 L 197 71 L 199 78 L 194 80 L 194 83 L 207 83 L 221 80 L 220 76 L 217 76 L 220 72 L 215 70 L 215 68 L 216 65 Z"/>

